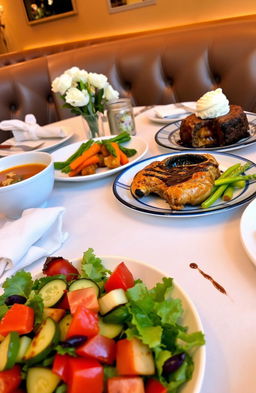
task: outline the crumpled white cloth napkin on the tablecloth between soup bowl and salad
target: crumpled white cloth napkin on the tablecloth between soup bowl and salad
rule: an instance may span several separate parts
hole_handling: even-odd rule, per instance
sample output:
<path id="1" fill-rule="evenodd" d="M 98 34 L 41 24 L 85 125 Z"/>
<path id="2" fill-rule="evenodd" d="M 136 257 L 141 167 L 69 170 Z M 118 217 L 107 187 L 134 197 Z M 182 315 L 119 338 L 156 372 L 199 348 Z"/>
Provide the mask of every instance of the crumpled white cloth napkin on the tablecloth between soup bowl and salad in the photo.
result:
<path id="1" fill-rule="evenodd" d="M 8 270 L 8 275 L 13 274 L 60 248 L 68 237 L 62 231 L 64 212 L 64 207 L 26 209 L 19 219 L 2 226 L 0 278 Z"/>

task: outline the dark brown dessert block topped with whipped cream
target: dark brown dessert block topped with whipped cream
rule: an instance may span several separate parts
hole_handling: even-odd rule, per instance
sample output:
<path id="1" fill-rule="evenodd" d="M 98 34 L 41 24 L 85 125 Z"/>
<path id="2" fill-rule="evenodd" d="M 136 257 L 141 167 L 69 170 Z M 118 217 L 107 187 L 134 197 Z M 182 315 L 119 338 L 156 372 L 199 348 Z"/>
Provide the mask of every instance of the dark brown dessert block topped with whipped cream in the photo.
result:
<path id="1" fill-rule="evenodd" d="M 229 106 L 226 97 L 222 96 L 224 95 L 221 89 L 217 89 L 206 93 L 198 100 L 196 113 L 181 122 L 182 145 L 202 148 L 226 146 L 249 136 L 249 124 L 242 107 Z M 219 98 L 227 101 L 224 101 L 225 105 L 222 107 L 217 103 Z"/>

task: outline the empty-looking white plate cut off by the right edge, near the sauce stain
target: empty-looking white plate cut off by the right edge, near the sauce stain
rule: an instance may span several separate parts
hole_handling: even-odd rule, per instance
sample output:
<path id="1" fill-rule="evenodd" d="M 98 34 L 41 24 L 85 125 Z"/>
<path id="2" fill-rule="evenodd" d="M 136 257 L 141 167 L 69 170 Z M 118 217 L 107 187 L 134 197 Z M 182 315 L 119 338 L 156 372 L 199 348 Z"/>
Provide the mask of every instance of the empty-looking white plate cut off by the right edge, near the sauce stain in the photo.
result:
<path id="1" fill-rule="evenodd" d="M 256 265 L 256 199 L 246 207 L 242 214 L 240 235 L 248 257 Z"/>

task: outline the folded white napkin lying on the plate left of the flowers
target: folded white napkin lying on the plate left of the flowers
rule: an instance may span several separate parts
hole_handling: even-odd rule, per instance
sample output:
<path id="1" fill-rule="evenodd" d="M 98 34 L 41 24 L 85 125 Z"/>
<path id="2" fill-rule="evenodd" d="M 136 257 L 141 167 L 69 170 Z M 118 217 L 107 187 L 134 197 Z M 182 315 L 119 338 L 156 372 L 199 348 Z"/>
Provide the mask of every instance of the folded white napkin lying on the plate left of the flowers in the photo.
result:
<path id="1" fill-rule="evenodd" d="M 41 127 L 36 122 L 34 115 L 26 115 L 25 121 L 3 120 L 0 129 L 12 131 L 16 142 L 38 140 L 41 138 L 64 138 L 65 132 L 60 127 Z"/>

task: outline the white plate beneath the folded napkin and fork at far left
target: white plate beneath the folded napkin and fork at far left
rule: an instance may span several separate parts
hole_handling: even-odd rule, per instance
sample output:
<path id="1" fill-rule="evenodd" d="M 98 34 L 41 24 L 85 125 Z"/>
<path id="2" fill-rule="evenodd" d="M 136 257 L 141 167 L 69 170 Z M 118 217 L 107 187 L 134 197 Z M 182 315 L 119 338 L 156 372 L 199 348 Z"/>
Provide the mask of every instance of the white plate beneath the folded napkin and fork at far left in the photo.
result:
<path id="1" fill-rule="evenodd" d="M 3 145 L 16 145 L 16 144 L 24 144 L 27 146 L 37 146 L 39 143 L 42 143 L 42 145 L 38 148 L 38 149 L 34 149 L 32 151 L 48 151 L 51 150 L 53 148 L 56 148 L 60 145 L 62 145 L 62 143 L 67 142 L 74 134 L 73 131 L 71 131 L 68 127 L 62 127 L 63 129 L 65 129 L 65 132 L 67 134 L 67 136 L 65 136 L 64 138 L 44 138 L 44 139 L 38 139 L 36 141 L 24 141 L 24 142 L 16 142 L 14 138 L 9 138 L 7 140 L 5 140 L 3 142 Z M 15 149 L 15 150 L 1 150 L 0 149 L 0 156 L 1 157 L 5 157 L 5 156 L 10 156 L 13 154 L 19 154 L 19 153 L 24 153 L 24 150 L 20 149 Z"/>

